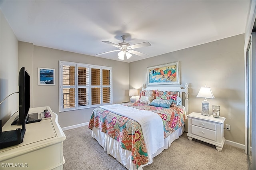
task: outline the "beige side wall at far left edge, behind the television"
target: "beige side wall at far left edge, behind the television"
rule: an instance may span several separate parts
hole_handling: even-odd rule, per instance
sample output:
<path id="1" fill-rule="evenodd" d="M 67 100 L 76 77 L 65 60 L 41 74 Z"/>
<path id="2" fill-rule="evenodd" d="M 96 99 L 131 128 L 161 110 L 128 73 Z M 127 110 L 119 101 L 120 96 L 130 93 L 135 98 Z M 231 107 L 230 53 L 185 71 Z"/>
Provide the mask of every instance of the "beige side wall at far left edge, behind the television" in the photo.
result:
<path id="1" fill-rule="evenodd" d="M 18 74 L 18 40 L 0 11 L 0 101 L 19 91 Z M 15 93 L 0 106 L 2 123 L 6 123 L 18 109 L 18 93 Z"/>

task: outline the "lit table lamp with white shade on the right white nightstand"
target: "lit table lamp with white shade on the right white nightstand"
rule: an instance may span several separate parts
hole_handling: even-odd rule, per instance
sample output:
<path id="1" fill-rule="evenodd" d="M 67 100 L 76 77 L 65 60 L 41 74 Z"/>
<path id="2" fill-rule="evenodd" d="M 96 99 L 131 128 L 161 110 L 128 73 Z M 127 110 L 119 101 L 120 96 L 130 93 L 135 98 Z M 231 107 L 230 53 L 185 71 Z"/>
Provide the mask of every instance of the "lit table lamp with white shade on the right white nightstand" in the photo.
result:
<path id="1" fill-rule="evenodd" d="M 210 102 L 207 101 L 208 99 L 214 99 L 214 96 L 212 94 L 211 87 L 206 87 L 207 85 L 204 85 L 204 87 L 200 87 L 200 90 L 198 92 L 198 95 L 196 97 L 204 98 L 204 101 L 202 101 L 202 113 L 201 115 L 210 116 L 209 113 L 209 105 Z"/>

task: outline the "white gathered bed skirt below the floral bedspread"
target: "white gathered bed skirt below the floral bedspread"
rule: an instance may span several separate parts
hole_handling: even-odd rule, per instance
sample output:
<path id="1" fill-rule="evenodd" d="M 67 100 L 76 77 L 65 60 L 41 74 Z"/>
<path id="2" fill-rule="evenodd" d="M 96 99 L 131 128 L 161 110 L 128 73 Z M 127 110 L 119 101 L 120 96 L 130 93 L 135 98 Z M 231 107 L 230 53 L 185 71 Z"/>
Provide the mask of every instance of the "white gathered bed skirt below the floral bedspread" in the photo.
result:
<path id="1" fill-rule="evenodd" d="M 159 148 L 156 153 L 152 154 L 152 158 L 162 153 L 164 149 L 169 148 L 172 142 L 178 139 L 183 132 L 184 126 L 178 128 L 178 130 L 176 130 L 170 136 L 165 138 L 164 147 Z M 100 146 L 104 148 L 105 152 L 116 158 L 116 160 L 118 160 L 118 162 L 120 162 L 128 170 L 137 170 L 136 166 L 131 161 L 132 152 L 121 148 L 117 140 L 111 138 L 110 136 L 108 136 L 108 134 L 101 132 L 99 128 L 95 127 L 92 127 L 92 137 L 98 141 Z M 151 164 L 152 162 L 148 162 L 148 164 Z M 138 170 L 142 170 L 142 167 L 148 164 L 140 166 Z"/>

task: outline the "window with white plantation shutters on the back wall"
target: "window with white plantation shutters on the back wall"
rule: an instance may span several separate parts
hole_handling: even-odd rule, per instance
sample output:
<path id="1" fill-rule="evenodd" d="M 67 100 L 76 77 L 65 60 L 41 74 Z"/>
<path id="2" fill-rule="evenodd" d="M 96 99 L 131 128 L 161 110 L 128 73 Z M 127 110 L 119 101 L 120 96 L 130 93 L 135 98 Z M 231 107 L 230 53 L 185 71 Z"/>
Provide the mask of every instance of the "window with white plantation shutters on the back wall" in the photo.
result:
<path id="1" fill-rule="evenodd" d="M 60 112 L 112 104 L 112 67 L 59 61 Z"/>

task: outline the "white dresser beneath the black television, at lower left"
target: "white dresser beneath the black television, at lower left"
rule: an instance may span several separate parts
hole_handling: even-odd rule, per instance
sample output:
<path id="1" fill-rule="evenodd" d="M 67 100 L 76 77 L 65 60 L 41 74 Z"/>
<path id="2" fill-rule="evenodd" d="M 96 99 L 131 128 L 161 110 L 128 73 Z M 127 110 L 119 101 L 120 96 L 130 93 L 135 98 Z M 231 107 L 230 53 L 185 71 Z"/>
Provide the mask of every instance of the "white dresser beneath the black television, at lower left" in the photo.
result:
<path id="1" fill-rule="evenodd" d="M 50 107 L 30 108 L 29 113 L 42 113 L 44 109 L 50 111 L 51 119 L 26 124 L 23 142 L 0 150 L 1 170 L 63 170 L 62 144 L 66 136 L 58 124 L 58 115 Z M 2 131 L 22 128 L 11 125 L 16 115 L 4 124 Z"/>

